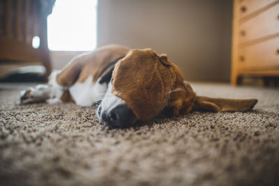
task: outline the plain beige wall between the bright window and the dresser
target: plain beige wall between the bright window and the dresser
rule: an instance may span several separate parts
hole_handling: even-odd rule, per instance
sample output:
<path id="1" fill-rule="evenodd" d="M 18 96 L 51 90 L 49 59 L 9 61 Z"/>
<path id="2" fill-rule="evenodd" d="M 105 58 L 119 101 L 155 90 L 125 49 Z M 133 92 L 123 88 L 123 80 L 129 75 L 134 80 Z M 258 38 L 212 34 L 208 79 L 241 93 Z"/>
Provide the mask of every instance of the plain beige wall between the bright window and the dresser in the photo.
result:
<path id="1" fill-rule="evenodd" d="M 229 0 L 99 0 L 98 46 L 151 47 L 189 80 L 228 81 Z"/>

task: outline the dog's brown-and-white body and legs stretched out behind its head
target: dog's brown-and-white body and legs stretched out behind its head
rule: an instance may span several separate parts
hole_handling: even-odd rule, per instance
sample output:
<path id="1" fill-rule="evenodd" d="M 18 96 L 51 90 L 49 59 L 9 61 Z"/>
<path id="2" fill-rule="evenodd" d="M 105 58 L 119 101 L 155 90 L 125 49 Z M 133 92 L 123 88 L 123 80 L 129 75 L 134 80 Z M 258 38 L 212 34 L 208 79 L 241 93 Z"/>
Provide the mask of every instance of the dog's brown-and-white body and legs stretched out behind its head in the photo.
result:
<path id="1" fill-rule="evenodd" d="M 128 51 L 126 47 L 109 45 L 76 56 L 63 70 L 52 72 L 47 86 L 38 85 L 38 88 L 24 91 L 21 102 L 47 101 L 53 104 L 74 101 L 83 107 L 92 106 L 103 100 L 116 61 Z"/>

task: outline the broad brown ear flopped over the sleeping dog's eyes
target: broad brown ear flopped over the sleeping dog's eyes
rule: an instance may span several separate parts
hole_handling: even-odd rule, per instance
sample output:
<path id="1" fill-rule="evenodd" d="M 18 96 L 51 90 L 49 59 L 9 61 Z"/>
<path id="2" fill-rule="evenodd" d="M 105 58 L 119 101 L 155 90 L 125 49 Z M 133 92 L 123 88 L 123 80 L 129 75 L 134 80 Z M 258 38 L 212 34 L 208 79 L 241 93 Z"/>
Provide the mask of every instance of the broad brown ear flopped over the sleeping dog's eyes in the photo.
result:
<path id="1" fill-rule="evenodd" d="M 158 116 L 166 107 L 175 73 L 166 56 L 153 50 L 131 50 L 116 63 L 112 73 L 112 93 L 128 104 L 141 121 Z"/>

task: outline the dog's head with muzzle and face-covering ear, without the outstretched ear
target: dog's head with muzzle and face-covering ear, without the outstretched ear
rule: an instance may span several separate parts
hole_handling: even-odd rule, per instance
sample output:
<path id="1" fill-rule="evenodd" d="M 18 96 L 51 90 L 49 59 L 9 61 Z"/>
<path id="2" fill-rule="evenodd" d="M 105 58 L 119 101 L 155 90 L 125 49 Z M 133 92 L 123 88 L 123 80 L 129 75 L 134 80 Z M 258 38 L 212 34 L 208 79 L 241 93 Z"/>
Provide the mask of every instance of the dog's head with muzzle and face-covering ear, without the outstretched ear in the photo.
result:
<path id="1" fill-rule="evenodd" d="M 178 115 L 179 111 L 188 110 L 188 101 L 195 98 L 189 88 L 179 68 L 165 54 L 133 49 L 116 63 L 98 116 L 105 125 L 129 127 L 137 120 L 158 116 L 164 109 L 167 114 Z"/>

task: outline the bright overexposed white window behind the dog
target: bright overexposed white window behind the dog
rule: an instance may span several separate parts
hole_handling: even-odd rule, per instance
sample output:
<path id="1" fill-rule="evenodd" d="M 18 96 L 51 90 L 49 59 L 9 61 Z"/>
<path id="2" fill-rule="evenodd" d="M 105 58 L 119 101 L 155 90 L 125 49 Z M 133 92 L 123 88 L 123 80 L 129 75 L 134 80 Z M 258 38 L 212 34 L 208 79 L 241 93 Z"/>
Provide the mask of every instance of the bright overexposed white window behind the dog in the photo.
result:
<path id="1" fill-rule="evenodd" d="M 98 0 L 56 0 L 47 17 L 50 50 L 88 51 L 96 48 Z"/>

